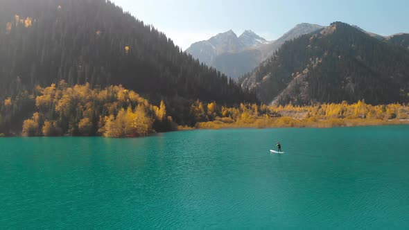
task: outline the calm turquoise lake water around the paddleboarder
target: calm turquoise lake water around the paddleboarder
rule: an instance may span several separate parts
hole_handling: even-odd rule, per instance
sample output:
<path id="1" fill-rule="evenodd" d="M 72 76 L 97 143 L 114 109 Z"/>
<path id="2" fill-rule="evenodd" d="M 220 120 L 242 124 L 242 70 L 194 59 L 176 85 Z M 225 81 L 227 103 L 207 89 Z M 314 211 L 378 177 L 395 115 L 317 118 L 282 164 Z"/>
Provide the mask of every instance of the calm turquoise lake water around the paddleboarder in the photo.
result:
<path id="1" fill-rule="evenodd" d="M 0 139 L 0 229 L 408 229 L 408 146 L 409 126 Z"/>

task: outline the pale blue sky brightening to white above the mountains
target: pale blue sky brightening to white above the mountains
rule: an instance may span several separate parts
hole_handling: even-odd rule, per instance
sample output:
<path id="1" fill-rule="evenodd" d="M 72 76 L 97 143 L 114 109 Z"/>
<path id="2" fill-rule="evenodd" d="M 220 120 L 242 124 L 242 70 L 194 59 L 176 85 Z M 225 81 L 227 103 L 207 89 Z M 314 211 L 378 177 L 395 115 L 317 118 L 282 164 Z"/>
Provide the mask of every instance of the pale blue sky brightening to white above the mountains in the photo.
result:
<path id="1" fill-rule="evenodd" d="M 409 33 L 409 0 L 112 0 L 183 49 L 218 33 L 253 30 L 277 39 L 295 25 L 354 24 L 380 35 Z"/>

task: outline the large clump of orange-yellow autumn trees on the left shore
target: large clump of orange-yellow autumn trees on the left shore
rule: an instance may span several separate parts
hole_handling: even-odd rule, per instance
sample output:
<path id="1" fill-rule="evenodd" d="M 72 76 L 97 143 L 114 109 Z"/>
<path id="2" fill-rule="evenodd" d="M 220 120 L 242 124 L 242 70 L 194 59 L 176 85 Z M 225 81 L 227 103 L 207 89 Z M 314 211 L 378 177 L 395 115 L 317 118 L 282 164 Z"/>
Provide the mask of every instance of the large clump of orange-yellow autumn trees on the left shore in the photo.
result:
<path id="1" fill-rule="evenodd" d="M 154 123 L 155 128 L 173 125 L 164 101 L 159 107 L 150 105 L 121 86 L 92 89 L 89 84 L 68 87 L 61 81 L 35 91 L 38 112 L 24 122 L 26 136 L 88 136 L 97 131 L 112 137 L 146 136 L 155 132 Z"/>

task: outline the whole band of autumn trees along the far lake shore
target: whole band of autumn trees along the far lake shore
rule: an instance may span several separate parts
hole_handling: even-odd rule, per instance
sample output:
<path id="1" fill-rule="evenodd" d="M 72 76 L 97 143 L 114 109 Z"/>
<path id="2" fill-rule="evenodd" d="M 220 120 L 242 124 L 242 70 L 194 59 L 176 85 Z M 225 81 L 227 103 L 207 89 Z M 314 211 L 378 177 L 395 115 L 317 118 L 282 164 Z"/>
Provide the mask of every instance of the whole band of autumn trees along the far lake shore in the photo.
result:
<path id="1" fill-rule="evenodd" d="M 237 127 L 349 127 L 409 124 L 409 106 L 357 103 L 258 105 L 228 107 L 191 101 L 182 109 L 158 105 L 122 86 L 92 89 L 89 84 L 36 87 L 6 98 L 0 107 L 0 136 L 138 137 L 156 132 Z M 173 103 L 174 104 L 174 103 Z M 184 111 L 184 112 L 180 112 Z M 175 117 L 177 116 L 177 117 Z M 11 132 L 15 119 L 20 127 Z M 175 122 L 178 121 L 178 122 Z"/>

